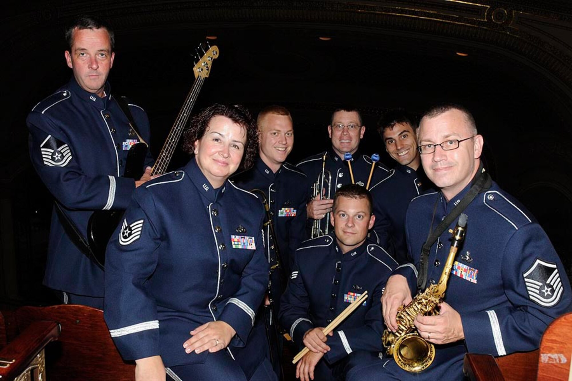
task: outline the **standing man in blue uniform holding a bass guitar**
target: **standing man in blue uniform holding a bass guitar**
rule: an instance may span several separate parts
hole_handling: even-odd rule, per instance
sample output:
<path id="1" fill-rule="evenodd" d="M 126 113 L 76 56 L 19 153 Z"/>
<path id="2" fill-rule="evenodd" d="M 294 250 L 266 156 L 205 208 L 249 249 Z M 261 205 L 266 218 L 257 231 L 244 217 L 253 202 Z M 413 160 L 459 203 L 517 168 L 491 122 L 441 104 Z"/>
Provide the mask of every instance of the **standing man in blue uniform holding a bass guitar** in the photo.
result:
<path id="1" fill-rule="evenodd" d="M 32 164 L 56 201 L 43 284 L 63 303 L 102 308 L 104 272 L 81 241 L 93 211 L 125 209 L 133 190 L 152 177 L 149 153 L 141 178 L 121 177 L 129 149 L 149 142 L 149 121 L 140 106 L 110 92 L 107 78 L 115 53 L 108 25 L 80 17 L 66 39 L 73 77 L 39 102 L 26 121 Z"/>

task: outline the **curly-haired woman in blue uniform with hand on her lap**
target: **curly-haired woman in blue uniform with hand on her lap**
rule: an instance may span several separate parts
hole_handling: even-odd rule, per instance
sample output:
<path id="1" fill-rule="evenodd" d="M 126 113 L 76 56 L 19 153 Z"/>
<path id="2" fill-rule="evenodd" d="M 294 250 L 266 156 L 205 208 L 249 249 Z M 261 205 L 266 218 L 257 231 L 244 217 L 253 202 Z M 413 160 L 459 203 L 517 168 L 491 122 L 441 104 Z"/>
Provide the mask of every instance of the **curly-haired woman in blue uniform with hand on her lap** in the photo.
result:
<path id="1" fill-rule="evenodd" d="M 181 170 L 134 192 L 105 263 L 105 320 L 136 380 L 245 380 L 244 347 L 268 284 L 256 196 L 227 178 L 252 166 L 256 124 L 242 106 L 193 118 Z"/>

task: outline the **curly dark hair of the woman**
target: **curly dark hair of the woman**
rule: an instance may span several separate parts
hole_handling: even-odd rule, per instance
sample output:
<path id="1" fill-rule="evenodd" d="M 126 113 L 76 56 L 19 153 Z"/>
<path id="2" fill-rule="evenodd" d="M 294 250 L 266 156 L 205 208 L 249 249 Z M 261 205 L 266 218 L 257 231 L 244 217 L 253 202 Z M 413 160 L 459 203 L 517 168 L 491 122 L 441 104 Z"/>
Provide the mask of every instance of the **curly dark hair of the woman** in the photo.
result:
<path id="1" fill-rule="evenodd" d="M 238 170 L 251 168 L 258 154 L 259 133 L 256 121 L 252 118 L 248 109 L 242 105 L 221 105 L 216 103 L 202 109 L 191 118 L 189 126 L 185 129 L 182 149 L 188 154 L 193 154 L 194 142 L 204 136 L 210 120 L 216 116 L 227 117 L 246 130 L 247 142 L 244 145 L 243 160 L 240 161 Z"/>

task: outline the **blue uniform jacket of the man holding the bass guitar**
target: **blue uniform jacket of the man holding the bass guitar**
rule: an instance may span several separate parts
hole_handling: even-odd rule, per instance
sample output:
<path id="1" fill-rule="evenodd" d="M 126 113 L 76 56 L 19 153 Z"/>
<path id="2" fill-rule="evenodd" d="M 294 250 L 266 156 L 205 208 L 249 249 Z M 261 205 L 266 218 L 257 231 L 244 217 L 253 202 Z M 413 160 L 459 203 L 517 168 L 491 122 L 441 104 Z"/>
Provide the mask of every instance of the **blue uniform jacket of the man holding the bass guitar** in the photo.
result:
<path id="1" fill-rule="evenodd" d="M 120 177 L 130 146 L 138 142 L 127 117 L 105 86 L 100 98 L 74 78 L 39 102 L 27 117 L 30 157 L 50 193 L 86 236 L 95 210 L 125 209 L 135 181 Z M 139 106 L 129 105 L 137 129 L 149 142 L 149 121 Z M 152 165 L 148 155 L 145 165 Z M 104 273 L 72 243 L 55 211 L 51 216 L 46 273 L 50 288 L 103 296 Z"/>

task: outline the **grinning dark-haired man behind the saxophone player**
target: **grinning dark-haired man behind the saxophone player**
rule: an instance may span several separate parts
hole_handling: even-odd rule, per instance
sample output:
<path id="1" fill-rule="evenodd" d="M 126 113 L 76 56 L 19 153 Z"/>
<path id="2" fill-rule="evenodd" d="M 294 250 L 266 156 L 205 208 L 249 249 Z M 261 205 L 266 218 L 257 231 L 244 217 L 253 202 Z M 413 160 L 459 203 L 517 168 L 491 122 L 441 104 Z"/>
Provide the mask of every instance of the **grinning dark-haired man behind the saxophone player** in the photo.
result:
<path id="1" fill-rule="evenodd" d="M 389 176 L 370 186 L 374 199 L 374 231 L 386 237 L 392 255 L 399 263 L 408 260 L 405 240 L 405 214 L 411 199 L 431 187 L 425 176 L 419 151 L 415 119 L 404 110 L 391 110 L 378 122 L 378 131 L 387 153 L 397 162 Z"/>

